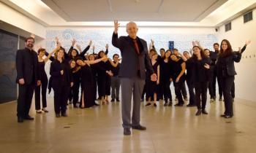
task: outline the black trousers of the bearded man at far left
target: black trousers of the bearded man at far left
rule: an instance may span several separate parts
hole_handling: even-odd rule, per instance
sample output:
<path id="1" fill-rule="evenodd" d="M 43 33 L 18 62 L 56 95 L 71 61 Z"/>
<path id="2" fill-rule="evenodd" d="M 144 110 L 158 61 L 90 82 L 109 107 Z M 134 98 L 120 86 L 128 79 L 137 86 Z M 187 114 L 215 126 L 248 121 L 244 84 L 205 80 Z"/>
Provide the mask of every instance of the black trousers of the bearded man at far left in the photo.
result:
<path id="1" fill-rule="evenodd" d="M 26 117 L 34 94 L 35 85 L 18 85 L 17 116 Z"/>

